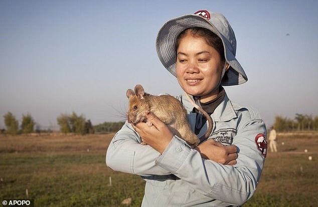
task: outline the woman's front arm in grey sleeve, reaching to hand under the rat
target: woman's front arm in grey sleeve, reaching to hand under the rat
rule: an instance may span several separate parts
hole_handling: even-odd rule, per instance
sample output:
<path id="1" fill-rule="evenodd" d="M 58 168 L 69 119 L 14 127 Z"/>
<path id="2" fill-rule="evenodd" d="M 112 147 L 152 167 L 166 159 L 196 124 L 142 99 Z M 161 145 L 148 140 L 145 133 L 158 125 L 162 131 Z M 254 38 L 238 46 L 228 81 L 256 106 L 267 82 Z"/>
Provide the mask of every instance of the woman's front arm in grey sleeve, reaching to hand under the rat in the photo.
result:
<path id="1" fill-rule="evenodd" d="M 149 129 L 143 127 L 142 123 L 136 126 L 142 139 L 150 146 L 156 147 L 153 144 L 157 142 L 153 138 L 155 136 L 143 137 L 145 132 L 142 132 L 150 130 L 156 124 Z M 162 127 L 164 125 L 158 128 Z M 262 120 L 253 118 L 241 123 L 232 143 L 239 150 L 234 166 L 202 159 L 197 150 L 176 136 L 170 138 L 171 141 L 156 160 L 156 164 L 187 181 L 192 188 L 206 196 L 241 205 L 253 195 L 263 168 L 265 158 L 255 143 L 255 138 L 260 133 L 266 133 Z M 157 149 L 161 150 L 160 147 Z"/>

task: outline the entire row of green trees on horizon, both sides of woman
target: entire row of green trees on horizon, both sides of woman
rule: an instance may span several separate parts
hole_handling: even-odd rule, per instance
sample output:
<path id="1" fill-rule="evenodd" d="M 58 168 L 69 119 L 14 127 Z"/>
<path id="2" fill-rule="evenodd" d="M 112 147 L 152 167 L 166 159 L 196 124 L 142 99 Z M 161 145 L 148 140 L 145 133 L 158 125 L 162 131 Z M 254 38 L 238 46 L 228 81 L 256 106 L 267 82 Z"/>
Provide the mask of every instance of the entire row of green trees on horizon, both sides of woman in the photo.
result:
<path id="1" fill-rule="evenodd" d="M 57 124 L 60 126 L 61 133 L 75 133 L 75 134 L 94 134 L 94 133 L 109 133 L 117 132 L 124 124 L 124 122 L 104 122 L 93 126 L 91 121 L 84 117 L 84 115 L 77 115 L 75 112 L 72 114 L 61 114 L 57 117 Z M 1 134 L 27 134 L 27 133 L 41 133 L 51 132 L 52 130 L 41 130 L 40 126 L 34 121 L 31 114 L 22 115 L 22 123 L 19 126 L 19 121 L 15 115 L 8 112 L 4 115 L 4 121 L 7 129 L 0 129 Z M 318 131 L 318 116 L 295 114 L 294 119 L 275 116 L 273 124 L 276 131 L 304 131 L 315 130 Z"/>

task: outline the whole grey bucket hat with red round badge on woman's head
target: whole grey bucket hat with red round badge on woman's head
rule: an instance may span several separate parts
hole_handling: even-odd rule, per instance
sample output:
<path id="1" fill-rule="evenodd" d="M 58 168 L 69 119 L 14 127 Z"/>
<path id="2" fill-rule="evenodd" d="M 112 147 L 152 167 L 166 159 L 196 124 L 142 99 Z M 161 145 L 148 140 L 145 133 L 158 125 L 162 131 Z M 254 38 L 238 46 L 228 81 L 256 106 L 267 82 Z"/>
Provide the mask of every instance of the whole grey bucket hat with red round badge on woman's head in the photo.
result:
<path id="1" fill-rule="evenodd" d="M 222 14 L 205 10 L 172 19 L 160 29 L 156 39 L 156 50 L 158 57 L 165 68 L 171 74 L 177 76 L 177 38 L 182 31 L 194 27 L 202 27 L 212 31 L 219 36 L 223 42 L 225 59 L 227 63 L 230 64 L 230 68 L 226 71 L 221 81 L 221 85 L 232 86 L 245 83 L 247 81 L 247 76 L 240 63 L 235 58 L 236 39 L 234 31 Z"/>

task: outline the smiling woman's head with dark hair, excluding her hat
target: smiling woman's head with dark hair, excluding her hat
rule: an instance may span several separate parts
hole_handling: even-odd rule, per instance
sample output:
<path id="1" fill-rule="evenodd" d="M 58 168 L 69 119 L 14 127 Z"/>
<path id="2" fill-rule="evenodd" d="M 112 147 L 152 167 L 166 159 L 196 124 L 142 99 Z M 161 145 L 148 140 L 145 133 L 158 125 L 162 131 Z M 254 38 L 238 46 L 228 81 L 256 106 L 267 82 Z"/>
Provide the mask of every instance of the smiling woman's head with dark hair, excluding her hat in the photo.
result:
<path id="1" fill-rule="evenodd" d="M 179 35 L 176 72 L 185 92 L 201 97 L 202 103 L 215 99 L 228 69 L 222 40 L 217 35 L 205 28 L 187 29 Z"/>

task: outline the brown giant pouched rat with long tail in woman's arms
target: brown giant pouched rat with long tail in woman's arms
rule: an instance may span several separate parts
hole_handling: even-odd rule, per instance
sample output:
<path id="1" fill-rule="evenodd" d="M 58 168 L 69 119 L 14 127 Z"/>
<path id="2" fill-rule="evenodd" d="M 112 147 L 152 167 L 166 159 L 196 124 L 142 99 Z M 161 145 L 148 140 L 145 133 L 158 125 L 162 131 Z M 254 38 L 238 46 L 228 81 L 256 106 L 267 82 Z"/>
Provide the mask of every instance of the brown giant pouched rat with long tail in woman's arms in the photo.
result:
<path id="1" fill-rule="evenodd" d="M 188 144 L 197 146 L 200 140 L 208 138 L 212 132 L 213 121 L 211 116 L 201 107 L 196 105 L 188 96 L 192 104 L 207 118 L 209 127 L 200 139 L 191 130 L 187 111 L 182 103 L 171 95 L 153 96 L 144 92 L 141 85 L 136 85 L 135 90 L 128 89 L 126 96 L 129 99 L 127 119 L 129 123 L 148 122 L 146 113 L 153 113 L 164 122 L 173 134 L 184 139 Z M 148 123 L 149 124 L 149 123 Z M 151 125 L 151 124 L 149 124 Z"/>

